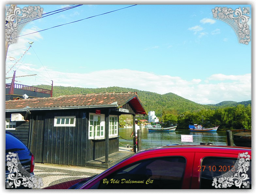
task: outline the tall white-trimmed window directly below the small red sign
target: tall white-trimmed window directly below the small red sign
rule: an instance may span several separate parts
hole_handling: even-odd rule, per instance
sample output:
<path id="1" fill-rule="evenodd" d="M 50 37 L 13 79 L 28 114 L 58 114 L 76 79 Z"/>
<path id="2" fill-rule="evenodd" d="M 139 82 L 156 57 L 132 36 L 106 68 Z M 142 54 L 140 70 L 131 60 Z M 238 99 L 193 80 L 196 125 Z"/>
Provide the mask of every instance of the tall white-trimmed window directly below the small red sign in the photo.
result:
<path id="1" fill-rule="evenodd" d="M 105 137 L 105 115 L 89 113 L 89 139 Z"/>

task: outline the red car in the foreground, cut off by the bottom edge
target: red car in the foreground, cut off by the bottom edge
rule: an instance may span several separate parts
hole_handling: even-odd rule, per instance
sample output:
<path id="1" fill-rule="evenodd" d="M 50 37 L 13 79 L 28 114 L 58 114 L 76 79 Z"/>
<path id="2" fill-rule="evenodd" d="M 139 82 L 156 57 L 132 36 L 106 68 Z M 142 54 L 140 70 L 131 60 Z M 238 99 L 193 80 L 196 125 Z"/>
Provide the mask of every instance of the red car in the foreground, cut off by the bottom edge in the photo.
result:
<path id="1" fill-rule="evenodd" d="M 99 175 L 44 189 L 63 188 L 251 189 L 251 148 L 178 145 L 141 150 Z"/>

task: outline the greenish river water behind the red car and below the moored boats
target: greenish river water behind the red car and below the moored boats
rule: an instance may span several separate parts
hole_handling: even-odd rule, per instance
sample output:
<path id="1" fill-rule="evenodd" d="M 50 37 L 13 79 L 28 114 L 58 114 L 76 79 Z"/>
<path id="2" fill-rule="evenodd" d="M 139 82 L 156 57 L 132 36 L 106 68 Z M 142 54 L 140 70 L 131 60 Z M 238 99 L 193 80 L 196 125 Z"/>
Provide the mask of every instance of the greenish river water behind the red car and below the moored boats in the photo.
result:
<path id="1" fill-rule="evenodd" d="M 226 146 L 227 136 L 226 131 L 216 132 L 191 132 L 188 129 L 176 129 L 174 132 L 152 132 L 146 127 L 140 127 L 142 149 L 148 149 L 159 146 L 167 145 L 185 145 L 193 144 L 199 145 L 200 143 L 212 143 L 213 145 Z M 119 146 L 133 145 L 133 140 L 130 137 L 132 128 L 119 129 Z M 182 142 L 181 135 L 193 135 L 193 142 Z"/>

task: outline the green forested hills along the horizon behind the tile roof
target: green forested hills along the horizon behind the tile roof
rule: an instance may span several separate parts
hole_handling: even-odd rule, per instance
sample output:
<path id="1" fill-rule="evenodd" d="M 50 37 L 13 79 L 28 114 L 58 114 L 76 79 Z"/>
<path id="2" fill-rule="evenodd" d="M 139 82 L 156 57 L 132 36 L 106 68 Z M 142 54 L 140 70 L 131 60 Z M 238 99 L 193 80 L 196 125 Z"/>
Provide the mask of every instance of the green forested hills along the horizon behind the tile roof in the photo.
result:
<path id="1" fill-rule="evenodd" d="M 43 89 L 51 89 L 50 85 L 36 85 L 35 87 Z M 235 106 L 239 102 L 226 101 L 215 105 L 202 105 L 182 98 L 173 93 L 160 95 L 149 91 L 141 91 L 132 88 L 124 87 L 107 87 L 107 88 L 80 88 L 80 87 L 53 87 L 53 97 L 61 95 L 75 95 L 75 94 L 91 94 L 91 93 L 105 93 L 105 92 L 137 92 L 138 97 L 144 106 L 145 110 L 155 111 L 156 115 L 161 114 L 161 110 L 177 110 L 178 113 L 184 111 L 197 111 L 200 109 L 213 109 L 220 106 Z M 251 101 L 241 102 L 241 104 L 248 105 Z"/>

